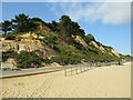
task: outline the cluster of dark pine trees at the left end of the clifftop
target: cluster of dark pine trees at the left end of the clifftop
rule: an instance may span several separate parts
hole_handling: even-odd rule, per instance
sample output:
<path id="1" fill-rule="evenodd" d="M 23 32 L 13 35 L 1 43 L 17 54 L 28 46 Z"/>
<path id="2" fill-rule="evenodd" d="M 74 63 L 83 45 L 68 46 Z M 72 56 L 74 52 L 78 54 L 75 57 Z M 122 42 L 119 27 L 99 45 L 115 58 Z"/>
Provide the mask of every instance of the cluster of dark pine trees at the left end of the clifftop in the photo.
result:
<path id="1" fill-rule="evenodd" d="M 40 23 L 43 21 L 40 18 L 29 18 L 24 13 L 18 14 L 11 21 L 4 20 L 2 22 L 2 31 L 7 33 L 8 31 L 13 32 L 28 32 L 34 31 Z"/>

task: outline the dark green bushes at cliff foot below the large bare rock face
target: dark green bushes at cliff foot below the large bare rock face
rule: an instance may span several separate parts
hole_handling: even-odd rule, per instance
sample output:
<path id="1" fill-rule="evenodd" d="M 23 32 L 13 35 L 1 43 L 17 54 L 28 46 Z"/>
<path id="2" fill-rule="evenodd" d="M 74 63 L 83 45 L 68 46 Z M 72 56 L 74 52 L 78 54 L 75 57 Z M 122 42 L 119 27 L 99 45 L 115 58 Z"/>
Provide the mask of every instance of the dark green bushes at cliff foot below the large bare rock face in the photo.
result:
<path id="1" fill-rule="evenodd" d="M 13 58 L 18 68 L 31 68 L 31 63 L 35 62 L 41 66 L 42 62 L 49 63 L 49 59 L 43 59 L 41 56 L 38 56 L 35 52 L 22 51 L 17 53 L 14 51 L 2 52 L 2 61 L 7 61 L 9 58 Z"/>

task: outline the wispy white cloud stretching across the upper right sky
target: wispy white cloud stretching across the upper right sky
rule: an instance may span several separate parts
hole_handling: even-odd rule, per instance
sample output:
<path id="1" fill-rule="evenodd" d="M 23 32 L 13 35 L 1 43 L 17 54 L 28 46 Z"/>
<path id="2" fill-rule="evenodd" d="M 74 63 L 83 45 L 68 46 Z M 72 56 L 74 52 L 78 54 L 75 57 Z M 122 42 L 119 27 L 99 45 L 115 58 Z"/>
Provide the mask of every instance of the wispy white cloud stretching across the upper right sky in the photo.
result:
<path id="1" fill-rule="evenodd" d="M 74 21 L 89 23 L 101 20 L 103 23 L 121 24 L 131 21 L 131 3 L 52 3 L 51 11 L 57 16 L 69 14 Z"/>

